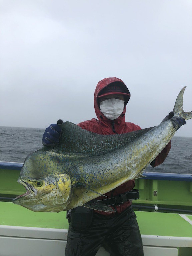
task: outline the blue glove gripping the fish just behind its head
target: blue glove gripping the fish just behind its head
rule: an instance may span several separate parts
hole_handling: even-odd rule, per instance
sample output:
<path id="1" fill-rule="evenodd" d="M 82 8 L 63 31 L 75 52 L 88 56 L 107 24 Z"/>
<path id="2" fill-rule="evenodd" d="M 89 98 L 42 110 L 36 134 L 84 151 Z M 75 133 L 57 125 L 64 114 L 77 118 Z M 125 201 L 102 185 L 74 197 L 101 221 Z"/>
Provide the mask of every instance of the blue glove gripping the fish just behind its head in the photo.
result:
<path id="1" fill-rule="evenodd" d="M 62 129 L 58 124 L 51 124 L 45 129 L 43 134 L 42 144 L 48 147 L 54 147 L 61 137 Z"/>

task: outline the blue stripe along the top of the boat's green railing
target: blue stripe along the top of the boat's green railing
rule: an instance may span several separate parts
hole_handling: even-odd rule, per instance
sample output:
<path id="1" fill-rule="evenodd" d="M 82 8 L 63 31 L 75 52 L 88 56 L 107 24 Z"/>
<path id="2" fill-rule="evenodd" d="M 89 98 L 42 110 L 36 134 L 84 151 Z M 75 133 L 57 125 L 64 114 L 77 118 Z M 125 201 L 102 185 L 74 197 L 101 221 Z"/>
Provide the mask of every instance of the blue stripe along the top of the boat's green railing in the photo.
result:
<path id="1" fill-rule="evenodd" d="M 1 162 L 0 169 L 9 170 L 21 170 L 23 163 Z M 175 181 L 191 181 L 192 174 L 180 174 L 180 173 L 160 173 L 160 172 L 144 172 L 145 176 L 142 179 L 148 180 L 175 180 Z"/>

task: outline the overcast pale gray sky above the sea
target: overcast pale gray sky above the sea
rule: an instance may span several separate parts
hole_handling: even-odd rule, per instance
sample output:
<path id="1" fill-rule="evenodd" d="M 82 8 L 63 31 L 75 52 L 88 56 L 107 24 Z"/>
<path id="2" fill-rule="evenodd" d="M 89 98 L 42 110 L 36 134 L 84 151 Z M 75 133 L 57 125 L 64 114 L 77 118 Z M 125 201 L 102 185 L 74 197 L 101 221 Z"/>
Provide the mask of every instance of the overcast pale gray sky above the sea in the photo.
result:
<path id="1" fill-rule="evenodd" d="M 126 121 L 158 125 L 186 85 L 192 111 L 191 0 L 0 0 L 0 125 L 95 118 L 98 81 L 131 92 Z M 192 137 L 192 120 L 176 136 Z"/>

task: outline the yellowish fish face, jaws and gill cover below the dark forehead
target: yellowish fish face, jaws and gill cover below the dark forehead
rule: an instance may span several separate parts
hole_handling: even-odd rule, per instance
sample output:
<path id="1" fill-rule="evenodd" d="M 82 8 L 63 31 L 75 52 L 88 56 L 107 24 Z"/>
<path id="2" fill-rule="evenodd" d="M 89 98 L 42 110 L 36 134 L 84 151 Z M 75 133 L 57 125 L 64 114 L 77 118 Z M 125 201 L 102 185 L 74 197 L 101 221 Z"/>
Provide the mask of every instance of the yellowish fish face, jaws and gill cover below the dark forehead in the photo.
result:
<path id="1" fill-rule="evenodd" d="M 26 188 L 13 203 L 32 211 L 59 212 L 70 202 L 71 179 L 67 174 L 51 174 L 46 178 L 20 177 L 18 182 Z"/>

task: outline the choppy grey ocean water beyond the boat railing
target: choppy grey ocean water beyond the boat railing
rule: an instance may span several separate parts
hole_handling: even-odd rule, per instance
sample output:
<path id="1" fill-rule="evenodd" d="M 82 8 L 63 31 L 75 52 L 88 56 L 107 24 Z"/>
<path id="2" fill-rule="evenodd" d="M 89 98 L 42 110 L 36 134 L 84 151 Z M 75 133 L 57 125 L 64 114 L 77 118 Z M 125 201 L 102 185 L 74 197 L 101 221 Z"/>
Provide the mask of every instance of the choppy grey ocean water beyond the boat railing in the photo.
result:
<path id="1" fill-rule="evenodd" d="M 26 156 L 42 147 L 44 129 L 0 126 L 0 161 L 23 163 Z M 164 163 L 149 172 L 192 174 L 192 138 L 174 136 Z"/>

